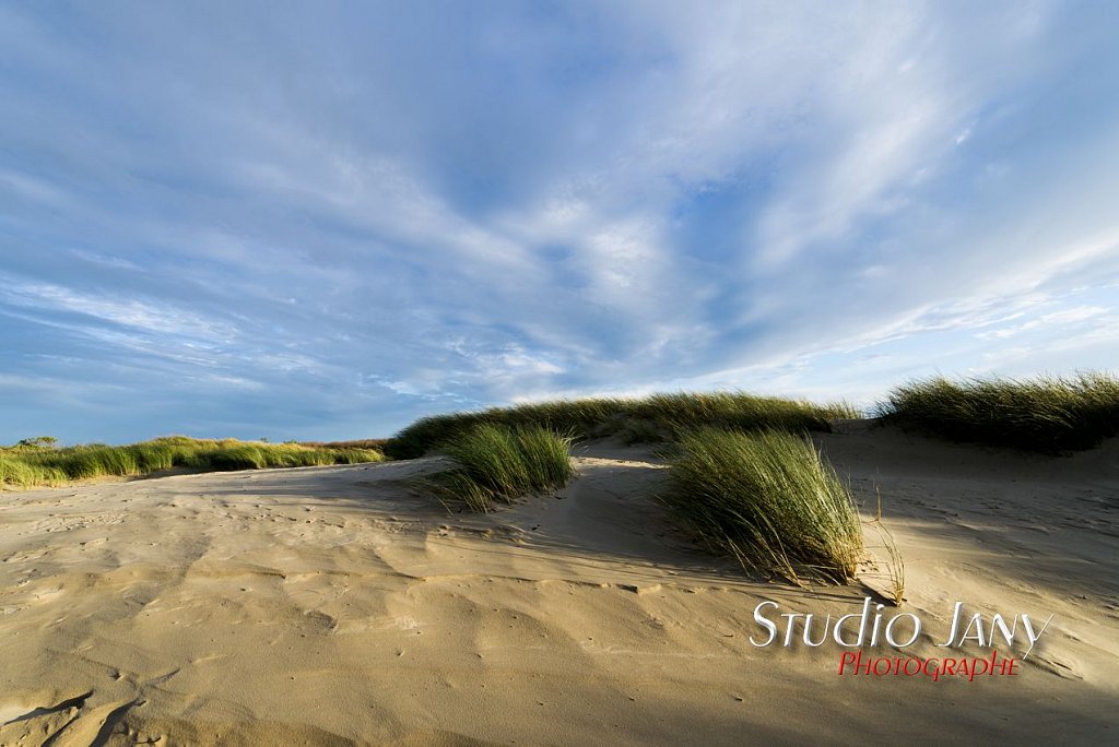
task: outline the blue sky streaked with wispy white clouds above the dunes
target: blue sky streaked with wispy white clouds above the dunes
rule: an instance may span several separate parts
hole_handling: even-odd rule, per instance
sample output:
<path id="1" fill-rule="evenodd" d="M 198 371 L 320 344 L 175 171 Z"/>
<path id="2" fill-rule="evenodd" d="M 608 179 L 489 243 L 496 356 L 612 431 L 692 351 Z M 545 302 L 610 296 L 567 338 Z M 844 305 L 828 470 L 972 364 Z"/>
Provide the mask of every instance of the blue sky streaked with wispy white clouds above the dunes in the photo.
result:
<path id="1" fill-rule="evenodd" d="M 0 0 L 0 443 L 1119 366 L 1113 2 Z"/>

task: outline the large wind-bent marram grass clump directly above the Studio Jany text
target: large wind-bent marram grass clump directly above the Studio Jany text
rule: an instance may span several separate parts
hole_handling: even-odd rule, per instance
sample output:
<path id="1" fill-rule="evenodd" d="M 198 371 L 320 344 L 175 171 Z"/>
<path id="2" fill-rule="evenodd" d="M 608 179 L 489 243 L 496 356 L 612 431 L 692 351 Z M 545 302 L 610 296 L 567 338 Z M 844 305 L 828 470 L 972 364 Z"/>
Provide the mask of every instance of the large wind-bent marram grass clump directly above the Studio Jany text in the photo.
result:
<path id="1" fill-rule="evenodd" d="M 747 571 L 846 583 L 864 557 L 850 492 L 801 435 L 702 428 L 681 434 L 661 497 L 717 554 Z"/>

